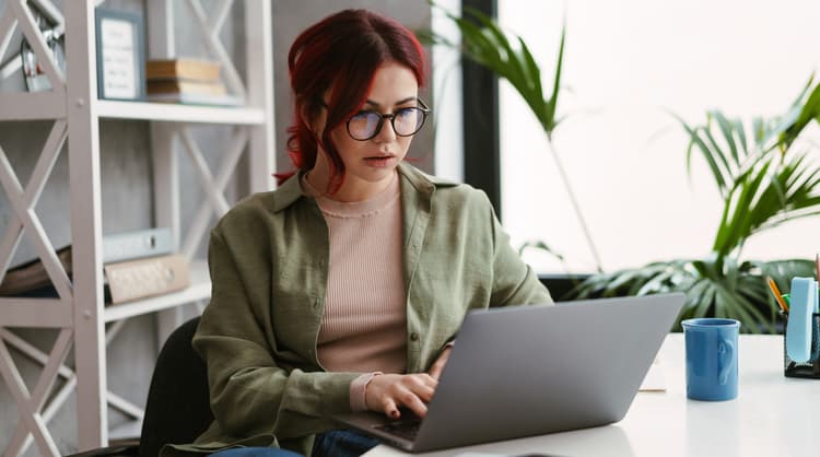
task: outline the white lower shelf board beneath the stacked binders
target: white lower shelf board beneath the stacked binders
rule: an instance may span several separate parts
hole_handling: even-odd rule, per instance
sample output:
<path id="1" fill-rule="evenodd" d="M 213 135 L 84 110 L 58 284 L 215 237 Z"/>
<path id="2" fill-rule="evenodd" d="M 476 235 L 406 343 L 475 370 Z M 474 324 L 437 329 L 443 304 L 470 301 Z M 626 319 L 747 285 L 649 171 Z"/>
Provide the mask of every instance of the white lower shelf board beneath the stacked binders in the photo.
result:
<path id="1" fill-rule="evenodd" d="M 204 260 L 195 260 L 190 263 L 190 286 L 179 292 L 119 305 L 108 305 L 104 310 L 103 320 L 106 323 L 121 320 L 210 297 L 211 280 L 208 274 L 208 265 Z"/>

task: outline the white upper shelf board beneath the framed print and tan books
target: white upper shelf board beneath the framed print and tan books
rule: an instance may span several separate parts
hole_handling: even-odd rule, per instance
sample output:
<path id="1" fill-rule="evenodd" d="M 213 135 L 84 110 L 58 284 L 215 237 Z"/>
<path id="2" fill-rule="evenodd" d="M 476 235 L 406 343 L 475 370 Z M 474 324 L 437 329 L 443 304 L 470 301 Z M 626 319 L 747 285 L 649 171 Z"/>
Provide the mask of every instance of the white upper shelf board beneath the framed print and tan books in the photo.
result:
<path id="1" fill-rule="evenodd" d="M 176 103 L 97 101 L 97 116 L 108 119 L 144 119 L 169 122 L 202 122 L 232 125 L 262 125 L 260 108 L 232 106 L 199 106 Z"/>

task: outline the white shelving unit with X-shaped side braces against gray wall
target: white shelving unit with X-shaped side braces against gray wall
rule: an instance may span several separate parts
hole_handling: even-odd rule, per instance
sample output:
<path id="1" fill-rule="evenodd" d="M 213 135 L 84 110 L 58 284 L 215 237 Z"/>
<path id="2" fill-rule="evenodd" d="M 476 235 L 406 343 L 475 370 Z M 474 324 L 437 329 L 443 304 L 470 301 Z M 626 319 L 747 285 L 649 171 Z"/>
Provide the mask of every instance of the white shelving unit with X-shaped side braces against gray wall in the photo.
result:
<path id="1" fill-rule="evenodd" d="M 125 319 L 156 313 L 160 339 L 164 340 L 179 324 L 179 306 L 207 301 L 210 282 L 203 261 L 194 254 L 208 233 L 212 215 L 229 209 L 224 188 L 239 157 L 247 153 L 250 190 L 273 187 L 270 172 L 274 169 L 273 77 L 270 3 L 266 0 L 242 0 L 244 3 L 245 81 L 239 78 L 230 54 L 219 39 L 233 1 L 211 2 L 216 11 L 204 11 L 199 0 L 187 0 L 186 20 L 202 32 L 202 43 L 213 59 L 222 63 L 229 90 L 246 101 L 242 107 L 206 107 L 141 102 L 97 99 L 94 9 L 103 1 L 71 1 L 60 11 L 50 0 L 7 0 L 0 10 L 0 61 L 9 51 L 15 31 L 23 33 L 42 62 L 51 83 L 51 91 L 36 93 L 0 92 L 0 121 L 51 120 L 50 133 L 27 184 L 21 184 L 10 165 L 0 139 L 0 184 L 13 214 L 7 232 L 0 237 L 0 271 L 4 274 L 23 236 L 33 242 L 58 292 L 56 298 L 0 298 L 0 374 L 21 412 L 20 423 L 4 456 L 16 456 L 32 444 L 44 456 L 59 452 L 48 430 L 48 422 L 65 399 L 77 392 L 78 448 L 89 449 L 108 443 L 107 407 L 117 408 L 137 419 L 142 411 L 109 392 L 106 382 L 106 343 L 116 335 Z M 145 0 L 145 37 L 150 58 L 175 57 L 173 0 Z M 39 33 L 28 4 L 57 19 L 66 32 L 63 74 Z M 157 226 L 169 226 L 178 250 L 191 260 L 191 286 L 188 289 L 106 307 L 103 301 L 99 120 L 142 119 L 151 121 L 154 163 L 154 201 Z M 190 132 L 191 125 L 235 126 L 230 148 L 213 171 Z M 183 144 L 206 196 L 202 207 L 180 233 L 179 221 L 179 151 Z M 70 224 L 73 279 L 59 263 L 54 246 L 35 212 L 35 204 L 57 161 L 68 143 Z M 1 276 L 0 276 L 1 278 Z M 106 331 L 106 324 L 109 324 Z M 11 328 L 34 327 L 57 329 L 58 337 L 49 353 L 43 353 Z M 74 349 L 74 368 L 66 358 Z M 26 386 L 11 358 L 10 348 L 27 354 L 43 365 L 33 389 Z M 66 379 L 59 391 L 52 391 L 58 377 Z M 48 400 L 48 401 L 47 401 Z"/>

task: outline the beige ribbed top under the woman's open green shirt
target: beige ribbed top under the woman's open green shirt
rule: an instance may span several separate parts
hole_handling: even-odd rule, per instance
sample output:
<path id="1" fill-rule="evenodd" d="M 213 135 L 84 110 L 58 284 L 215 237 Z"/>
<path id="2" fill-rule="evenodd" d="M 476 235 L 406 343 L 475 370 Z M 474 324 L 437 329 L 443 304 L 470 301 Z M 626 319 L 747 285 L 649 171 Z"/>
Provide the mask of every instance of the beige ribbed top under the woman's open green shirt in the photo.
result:
<path id="1" fill-rule="evenodd" d="M 308 195 L 318 195 L 302 179 Z M 317 354 L 329 372 L 403 373 L 407 315 L 397 174 L 364 201 L 316 197 L 330 235 L 325 315 Z"/>

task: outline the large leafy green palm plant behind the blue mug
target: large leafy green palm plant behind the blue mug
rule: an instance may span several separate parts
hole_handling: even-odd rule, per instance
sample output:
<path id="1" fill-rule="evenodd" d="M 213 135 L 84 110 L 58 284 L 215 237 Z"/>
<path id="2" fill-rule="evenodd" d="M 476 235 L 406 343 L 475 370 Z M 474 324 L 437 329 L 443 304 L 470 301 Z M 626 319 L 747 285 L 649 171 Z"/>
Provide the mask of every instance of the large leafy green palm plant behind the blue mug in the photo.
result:
<path id="1" fill-rule="evenodd" d="M 765 278 L 784 289 L 792 277 L 813 276 L 810 260 L 742 260 L 746 242 L 760 232 L 820 214 L 820 167 L 796 141 L 820 122 L 820 85 L 813 79 L 785 115 L 745 125 L 718 110 L 703 125 L 680 119 L 689 134 L 687 167 L 695 152 L 708 164 L 724 209 L 711 251 L 703 258 L 673 259 L 594 274 L 575 291 L 578 298 L 680 291 L 679 319 L 717 316 L 740 320 L 748 332 L 774 332 L 777 306 Z M 679 321 L 678 321 L 679 324 Z"/>

